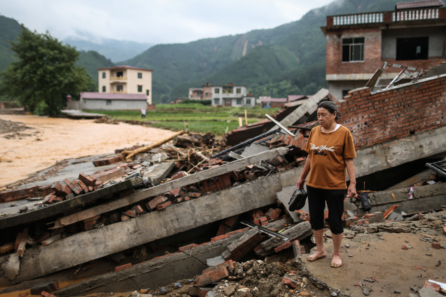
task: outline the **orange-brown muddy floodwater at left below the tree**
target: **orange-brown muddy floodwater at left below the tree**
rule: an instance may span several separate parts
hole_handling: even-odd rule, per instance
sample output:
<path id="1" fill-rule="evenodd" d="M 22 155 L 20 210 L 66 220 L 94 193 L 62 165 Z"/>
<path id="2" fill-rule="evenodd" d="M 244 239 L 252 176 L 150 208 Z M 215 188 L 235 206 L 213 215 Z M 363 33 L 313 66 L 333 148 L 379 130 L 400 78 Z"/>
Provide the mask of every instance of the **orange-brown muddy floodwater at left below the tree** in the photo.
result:
<path id="1" fill-rule="evenodd" d="M 173 132 L 139 125 L 99 124 L 34 115 L 5 115 L 31 129 L 0 134 L 0 188 L 66 158 L 114 153 L 116 148 L 150 144 Z"/>

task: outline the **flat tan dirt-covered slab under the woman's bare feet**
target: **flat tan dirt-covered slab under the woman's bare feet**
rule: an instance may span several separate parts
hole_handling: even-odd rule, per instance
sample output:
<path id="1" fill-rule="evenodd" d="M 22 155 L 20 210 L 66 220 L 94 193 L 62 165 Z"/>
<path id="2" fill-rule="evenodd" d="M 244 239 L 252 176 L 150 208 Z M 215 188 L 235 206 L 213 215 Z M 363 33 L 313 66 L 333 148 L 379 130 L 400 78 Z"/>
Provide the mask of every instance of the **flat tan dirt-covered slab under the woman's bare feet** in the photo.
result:
<path id="1" fill-rule="evenodd" d="M 435 266 L 440 259 L 446 258 L 446 249 L 431 250 L 430 243 L 420 241 L 420 237 L 422 235 L 413 233 L 384 232 L 357 234 L 354 239 L 343 239 L 343 263 L 340 268 L 330 267 L 333 253 L 333 241 L 330 238 L 325 243 L 327 257 L 313 262 L 305 259 L 307 255 L 302 255 L 301 259 L 313 277 L 341 290 L 341 293 L 363 296 L 360 287 L 355 286 L 360 283 L 371 287 L 375 297 L 394 296 L 394 290 L 401 291 L 401 296 L 408 296 L 410 287 L 421 288 L 429 278 L 446 277 L 446 270 Z M 441 236 L 440 241 L 444 245 L 446 238 Z M 403 245 L 411 245 L 413 248 L 404 250 Z M 372 277 L 376 282 L 364 281 Z"/>

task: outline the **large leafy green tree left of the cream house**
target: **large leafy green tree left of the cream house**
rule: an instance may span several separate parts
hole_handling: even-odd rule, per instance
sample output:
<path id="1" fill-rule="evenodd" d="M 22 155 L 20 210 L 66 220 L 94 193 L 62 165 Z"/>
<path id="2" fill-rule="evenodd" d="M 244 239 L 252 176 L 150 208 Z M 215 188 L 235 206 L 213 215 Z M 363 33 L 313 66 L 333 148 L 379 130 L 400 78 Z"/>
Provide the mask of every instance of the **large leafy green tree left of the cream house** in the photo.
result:
<path id="1" fill-rule="evenodd" d="M 31 32 L 21 25 L 17 42 L 10 42 L 17 61 L 0 73 L 0 95 L 17 98 L 31 111 L 48 106 L 48 115 L 57 116 L 66 94 L 77 95 L 91 84 L 85 67 L 75 64 L 79 52 L 62 45 L 47 31 Z"/>

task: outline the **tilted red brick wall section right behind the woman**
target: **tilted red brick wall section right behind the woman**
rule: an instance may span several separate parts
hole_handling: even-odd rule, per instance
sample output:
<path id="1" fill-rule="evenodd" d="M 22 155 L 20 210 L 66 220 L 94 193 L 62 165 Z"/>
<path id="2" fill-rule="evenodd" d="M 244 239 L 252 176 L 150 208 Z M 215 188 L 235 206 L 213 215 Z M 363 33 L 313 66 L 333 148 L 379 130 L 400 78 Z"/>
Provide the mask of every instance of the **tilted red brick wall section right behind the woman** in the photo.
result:
<path id="1" fill-rule="evenodd" d="M 446 75 L 373 95 L 369 88 L 348 94 L 338 102 L 339 123 L 350 129 L 356 149 L 446 125 Z"/>

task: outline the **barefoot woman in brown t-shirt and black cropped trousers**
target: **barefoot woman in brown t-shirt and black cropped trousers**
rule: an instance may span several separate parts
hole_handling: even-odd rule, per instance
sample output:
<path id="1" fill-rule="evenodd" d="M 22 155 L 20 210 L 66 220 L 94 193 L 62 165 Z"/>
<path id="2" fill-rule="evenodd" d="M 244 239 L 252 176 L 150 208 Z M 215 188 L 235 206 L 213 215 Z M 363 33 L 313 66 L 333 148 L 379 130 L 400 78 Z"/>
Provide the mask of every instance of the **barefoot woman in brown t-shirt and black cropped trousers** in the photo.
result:
<path id="1" fill-rule="evenodd" d="M 337 105 L 332 101 L 324 101 L 318 105 L 318 127 L 311 130 L 305 151 L 308 152 L 302 174 L 297 181 L 296 188 L 304 187 L 308 176 L 307 193 L 310 209 L 311 228 L 314 232 L 318 250 L 307 260 L 314 261 L 325 257 L 324 249 L 324 208 L 329 209 L 330 230 L 332 231 L 333 252 L 332 267 L 340 267 L 340 246 L 343 227 L 342 213 L 344 211 L 344 195 L 347 189 L 345 169 L 350 177 L 347 197 L 356 195 L 356 178 L 353 158 L 356 152 L 350 131 L 336 124 L 341 114 Z"/>

